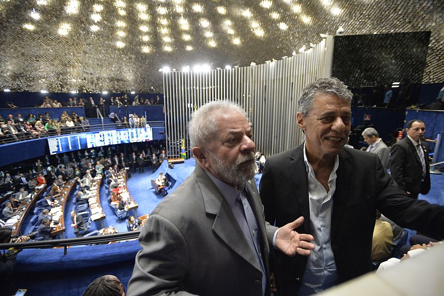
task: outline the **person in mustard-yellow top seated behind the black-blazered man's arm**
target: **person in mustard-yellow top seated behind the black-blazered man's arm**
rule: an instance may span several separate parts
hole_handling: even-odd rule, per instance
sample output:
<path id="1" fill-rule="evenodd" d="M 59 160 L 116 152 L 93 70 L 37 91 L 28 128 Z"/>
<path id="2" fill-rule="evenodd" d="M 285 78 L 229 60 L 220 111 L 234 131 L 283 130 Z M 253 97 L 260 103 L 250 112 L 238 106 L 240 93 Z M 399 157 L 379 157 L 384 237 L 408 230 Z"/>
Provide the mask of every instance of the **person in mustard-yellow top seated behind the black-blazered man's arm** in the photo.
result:
<path id="1" fill-rule="evenodd" d="M 393 231 L 389 222 L 380 220 L 381 213 L 376 210 L 376 222 L 373 230 L 373 242 L 371 245 L 371 259 L 373 261 L 386 258 L 393 246 Z"/>

